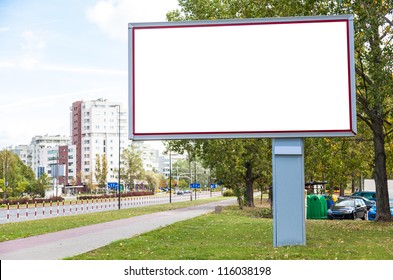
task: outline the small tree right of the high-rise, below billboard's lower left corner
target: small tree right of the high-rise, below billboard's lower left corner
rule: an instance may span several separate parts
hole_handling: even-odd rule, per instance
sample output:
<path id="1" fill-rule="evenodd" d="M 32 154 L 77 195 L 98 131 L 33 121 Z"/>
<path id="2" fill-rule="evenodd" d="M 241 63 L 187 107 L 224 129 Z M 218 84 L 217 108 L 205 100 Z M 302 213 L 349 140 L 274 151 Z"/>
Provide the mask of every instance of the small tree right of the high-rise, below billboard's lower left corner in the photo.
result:
<path id="1" fill-rule="evenodd" d="M 121 159 L 123 168 L 120 169 L 120 176 L 125 184 L 134 186 L 134 180 L 142 179 L 145 172 L 141 152 L 131 145 L 128 149 L 123 150 Z"/>

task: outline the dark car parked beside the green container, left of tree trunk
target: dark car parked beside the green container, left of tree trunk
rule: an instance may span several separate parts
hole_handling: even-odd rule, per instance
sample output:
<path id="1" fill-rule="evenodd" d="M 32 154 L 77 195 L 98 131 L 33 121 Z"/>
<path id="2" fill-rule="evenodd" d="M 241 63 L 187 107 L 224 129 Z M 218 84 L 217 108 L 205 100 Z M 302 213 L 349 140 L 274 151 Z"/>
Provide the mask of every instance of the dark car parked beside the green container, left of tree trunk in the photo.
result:
<path id="1" fill-rule="evenodd" d="M 348 198 L 337 200 L 334 205 L 328 209 L 328 219 L 366 219 L 367 206 L 362 199 Z"/>

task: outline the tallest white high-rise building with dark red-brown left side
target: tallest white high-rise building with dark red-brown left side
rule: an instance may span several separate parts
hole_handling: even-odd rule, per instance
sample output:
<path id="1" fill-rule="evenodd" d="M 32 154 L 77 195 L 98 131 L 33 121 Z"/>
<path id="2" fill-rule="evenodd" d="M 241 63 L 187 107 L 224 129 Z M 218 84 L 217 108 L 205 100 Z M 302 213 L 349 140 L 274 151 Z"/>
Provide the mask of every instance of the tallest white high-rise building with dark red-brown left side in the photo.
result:
<path id="1" fill-rule="evenodd" d="M 100 159 L 104 156 L 107 160 L 107 182 L 117 181 L 119 152 L 130 144 L 127 124 L 127 111 L 121 103 L 97 99 L 72 104 L 71 141 L 76 149 L 77 185 L 87 184 L 90 180 L 97 183 L 97 156 Z"/>

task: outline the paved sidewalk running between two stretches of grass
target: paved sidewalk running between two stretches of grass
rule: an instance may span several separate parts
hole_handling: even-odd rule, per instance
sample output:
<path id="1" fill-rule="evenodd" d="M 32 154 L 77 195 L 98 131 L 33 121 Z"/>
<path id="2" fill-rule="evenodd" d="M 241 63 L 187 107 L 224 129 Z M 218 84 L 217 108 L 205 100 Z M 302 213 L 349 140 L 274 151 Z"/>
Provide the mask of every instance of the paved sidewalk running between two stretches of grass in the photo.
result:
<path id="1" fill-rule="evenodd" d="M 0 242 L 0 260 L 56 260 L 75 256 L 169 224 L 191 219 L 235 199 Z"/>

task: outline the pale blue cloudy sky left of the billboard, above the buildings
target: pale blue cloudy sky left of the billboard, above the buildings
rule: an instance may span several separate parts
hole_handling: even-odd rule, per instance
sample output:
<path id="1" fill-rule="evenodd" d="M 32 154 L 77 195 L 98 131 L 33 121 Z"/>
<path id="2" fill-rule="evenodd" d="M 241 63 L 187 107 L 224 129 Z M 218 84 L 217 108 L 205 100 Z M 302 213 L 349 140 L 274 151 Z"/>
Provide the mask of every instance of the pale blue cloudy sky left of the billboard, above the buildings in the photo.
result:
<path id="1" fill-rule="evenodd" d="M 130 22 L 177 0 L 0 0 L 0 150 L 70 135 L 74 101 L 128 100 Z"/>

